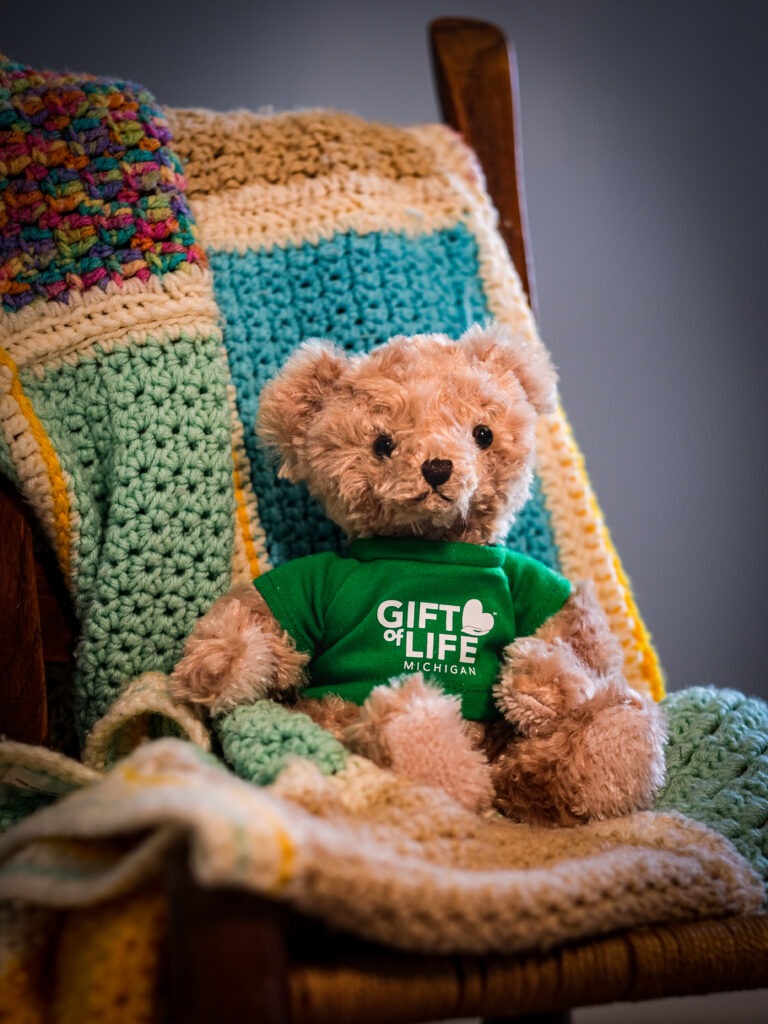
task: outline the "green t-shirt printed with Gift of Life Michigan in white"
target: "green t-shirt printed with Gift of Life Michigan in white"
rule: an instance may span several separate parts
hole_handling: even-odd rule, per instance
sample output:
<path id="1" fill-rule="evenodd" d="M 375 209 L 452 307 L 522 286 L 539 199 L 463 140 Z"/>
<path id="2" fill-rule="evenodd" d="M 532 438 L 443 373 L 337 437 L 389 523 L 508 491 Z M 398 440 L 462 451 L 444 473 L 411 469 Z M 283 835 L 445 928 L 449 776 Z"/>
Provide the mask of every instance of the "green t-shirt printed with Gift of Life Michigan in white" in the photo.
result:
<path id="1" fill-rule="evenodd" d="M 563 577 L 506 548 L 388 538 L 286 562 L 254 585 L 311 656 L 306 696 L 362 703 L 374 686 L 421 671 L 477 721 L 499 717 L 504 648 L 570 593 Z"/>

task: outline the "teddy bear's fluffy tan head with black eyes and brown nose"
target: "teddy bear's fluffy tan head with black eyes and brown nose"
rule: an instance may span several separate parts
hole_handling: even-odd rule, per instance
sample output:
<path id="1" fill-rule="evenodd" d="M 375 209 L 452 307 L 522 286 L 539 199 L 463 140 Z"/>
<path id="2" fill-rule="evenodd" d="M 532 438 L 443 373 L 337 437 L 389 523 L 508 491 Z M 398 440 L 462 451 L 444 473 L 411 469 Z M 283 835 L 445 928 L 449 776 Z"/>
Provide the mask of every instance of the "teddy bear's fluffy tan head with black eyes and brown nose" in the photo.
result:
<path id="1" fill-rule="evenodd" d="M 500 325 L 347 356 L 309 341 L 262 392 L 259 433 L 350 537 L 502 540 L 527 500 L 556 374 Z"/>

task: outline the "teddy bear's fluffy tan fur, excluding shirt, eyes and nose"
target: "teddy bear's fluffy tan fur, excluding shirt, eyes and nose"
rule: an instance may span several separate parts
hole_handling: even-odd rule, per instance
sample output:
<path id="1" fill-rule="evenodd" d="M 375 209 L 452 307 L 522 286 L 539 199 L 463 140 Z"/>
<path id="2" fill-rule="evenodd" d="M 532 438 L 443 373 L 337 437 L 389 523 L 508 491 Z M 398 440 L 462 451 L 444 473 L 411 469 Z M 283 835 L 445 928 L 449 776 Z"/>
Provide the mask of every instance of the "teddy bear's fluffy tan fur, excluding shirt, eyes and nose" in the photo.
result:
<path id="1" fill-rule="evenodd" d="M 264 388 L 258 429 L 281 475 L 304 480 L 350 537 L 493 544 L 528 498 L 536 420 L 555 398 L 545 350 L 498 325 L 459 341 L 397 337 L 352 357 L 313 341 Z M 481 426 L 487 446 L 473 436 Z M 433 460 L 452 469 L 437 484 L 423 472 Z M 305 663 L 258 593 L 236 589 L 196 627 L 174 685 L 213 713 L 282 695 L 380 765 L 526 821 L 646 808 L 663 779 L 663 718 L 624 680 L 590 584 L 506 649 L 502 722 L 464 722 L 457 699 L 420 674 L 378 687 L 361 709 L 297 701 Z"/>

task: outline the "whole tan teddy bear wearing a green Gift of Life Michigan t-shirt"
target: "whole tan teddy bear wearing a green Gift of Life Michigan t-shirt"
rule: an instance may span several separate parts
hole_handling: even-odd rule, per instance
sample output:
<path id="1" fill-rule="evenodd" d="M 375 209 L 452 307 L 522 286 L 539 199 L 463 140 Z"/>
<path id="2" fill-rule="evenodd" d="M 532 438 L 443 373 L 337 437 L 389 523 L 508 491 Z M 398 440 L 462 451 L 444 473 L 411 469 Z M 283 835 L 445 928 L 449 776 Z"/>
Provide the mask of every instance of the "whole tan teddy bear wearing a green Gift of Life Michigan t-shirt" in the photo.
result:
<path id="1" fill-rule="evenodd" d="M 304 343 L 257 429 L 349 539 L 241 585 L 197 624 L 175 693 L 270 697 L 465 807 L 546 825 L 649 808 L 665 724 L 632 690 L 590 583 L 504 540 L 530 494 L 557 377 L 499 324 Z"/>

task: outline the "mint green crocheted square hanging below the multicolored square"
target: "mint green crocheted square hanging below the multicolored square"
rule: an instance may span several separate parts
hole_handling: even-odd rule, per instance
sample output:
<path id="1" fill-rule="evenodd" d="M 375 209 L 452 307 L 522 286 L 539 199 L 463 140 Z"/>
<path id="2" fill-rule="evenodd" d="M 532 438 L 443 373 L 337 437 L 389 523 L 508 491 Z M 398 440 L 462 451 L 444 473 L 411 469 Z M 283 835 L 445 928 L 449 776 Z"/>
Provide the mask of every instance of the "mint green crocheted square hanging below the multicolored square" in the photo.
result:
<path id="1" fill-rule="evenodd" d="M 169 672 L 231 579 L 234 494 L 216 338 L 128 343 L 19 374 L 72 480 L 75 711 L 81 734 L 122 686 Z"/>

